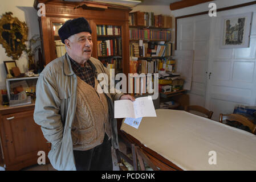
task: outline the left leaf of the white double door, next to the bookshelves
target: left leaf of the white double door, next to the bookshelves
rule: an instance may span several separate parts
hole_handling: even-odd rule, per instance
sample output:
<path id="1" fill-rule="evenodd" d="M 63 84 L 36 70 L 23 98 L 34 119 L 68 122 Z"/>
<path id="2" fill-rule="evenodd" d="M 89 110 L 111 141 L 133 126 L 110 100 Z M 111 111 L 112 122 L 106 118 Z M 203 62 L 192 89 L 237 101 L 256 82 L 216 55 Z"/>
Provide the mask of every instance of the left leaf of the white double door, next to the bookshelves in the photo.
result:
<path id="1" fill-rule="evenodd" d="M 209 16 L 178 19 L 177 27 L 177 49 L 194 50 L 192 86 L 188 91 L 190 105 L 205 107 L 210 35 Z"/>

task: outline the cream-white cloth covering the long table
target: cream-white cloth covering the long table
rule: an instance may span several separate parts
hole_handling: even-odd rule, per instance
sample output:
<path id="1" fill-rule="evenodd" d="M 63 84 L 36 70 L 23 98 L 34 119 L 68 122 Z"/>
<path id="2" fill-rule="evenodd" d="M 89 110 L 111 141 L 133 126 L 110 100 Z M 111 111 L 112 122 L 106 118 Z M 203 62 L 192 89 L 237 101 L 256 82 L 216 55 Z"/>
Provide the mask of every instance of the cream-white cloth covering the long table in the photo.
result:
<path id="1" fill-rule="evenodd" d="M 184 170 L 256 170 L 256 135 L 186 111 L 158 109 L 121 130 Z M 210 151 L 216 164 L 209 164 Z M 213 160 L 210 160 L 213 161 Z"/>

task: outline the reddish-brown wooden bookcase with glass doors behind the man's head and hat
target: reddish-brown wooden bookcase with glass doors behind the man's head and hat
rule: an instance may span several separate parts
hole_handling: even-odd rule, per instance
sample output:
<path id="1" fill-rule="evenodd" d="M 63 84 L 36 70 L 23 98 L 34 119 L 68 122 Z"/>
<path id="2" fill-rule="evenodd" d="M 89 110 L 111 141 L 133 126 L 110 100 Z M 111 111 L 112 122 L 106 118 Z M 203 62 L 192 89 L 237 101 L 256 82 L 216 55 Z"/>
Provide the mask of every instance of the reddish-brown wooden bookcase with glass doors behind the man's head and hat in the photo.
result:
<path id="1" fill-rule="evenodd" d="M 38 3 L 44 3 L 46 7 L 46 16 L 38 18 L 45 64 L 56 59 L 57 55 L 61 56 L 64 54 L 64 51 L 58 51 L 59 48 L 64 48 L 62 43 L 59 44 L 58 28 L 68 19 L 84 17 L 88 20 L 92 29 L 92 41 L 94 43 L 92 57 L 99 60 L 106 58 L 111 59 L 112 57 L 98 56 L 97 41 L 107 38 L 113 39 L 115 36 L 97 35 L 97 26 L 120 27 L 121 55 L 119 56 L 122 57 L 121 68 L 123 69 L 123 73 L 128 74 L 129 11 L 131 11 L 131 9 L 120 5 L 87 1 L 67 2 L 58 0 L 35 0 L 34 7 L 36 10 L 38 10 Z"/>

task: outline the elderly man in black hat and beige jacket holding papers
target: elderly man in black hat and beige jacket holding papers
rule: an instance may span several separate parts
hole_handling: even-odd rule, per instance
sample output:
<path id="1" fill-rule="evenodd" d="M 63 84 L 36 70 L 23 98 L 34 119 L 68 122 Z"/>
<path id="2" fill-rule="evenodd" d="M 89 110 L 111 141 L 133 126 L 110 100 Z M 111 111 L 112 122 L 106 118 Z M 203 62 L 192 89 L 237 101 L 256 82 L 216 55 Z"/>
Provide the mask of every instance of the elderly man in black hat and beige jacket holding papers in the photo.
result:
<path id="1" fill-rule="evenodd" d="M 51 142 L 48 158 L 58 170 L 112 170 L 111 144 L 118 148 L 113 100 L 135 100 L 97 92 L 97 75 L 109 73 L 91 57 L 91 34 L 84 18 L 64 23 L 59 36 L 67 53 L 44 68 L 36 85 L 34 120 Z"/>

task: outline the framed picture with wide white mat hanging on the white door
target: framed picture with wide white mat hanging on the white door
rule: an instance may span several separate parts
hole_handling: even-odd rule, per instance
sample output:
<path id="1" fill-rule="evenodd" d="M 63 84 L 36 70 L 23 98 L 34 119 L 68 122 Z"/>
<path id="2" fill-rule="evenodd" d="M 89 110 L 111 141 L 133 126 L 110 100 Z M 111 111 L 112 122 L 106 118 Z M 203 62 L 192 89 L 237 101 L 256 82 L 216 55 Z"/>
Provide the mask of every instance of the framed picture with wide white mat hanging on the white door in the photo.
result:
<path id="1" fill-rule="evenodd" d="M 221 48 L 241 48 L 250 45 L 252 13 L 222 17 Z"/>

